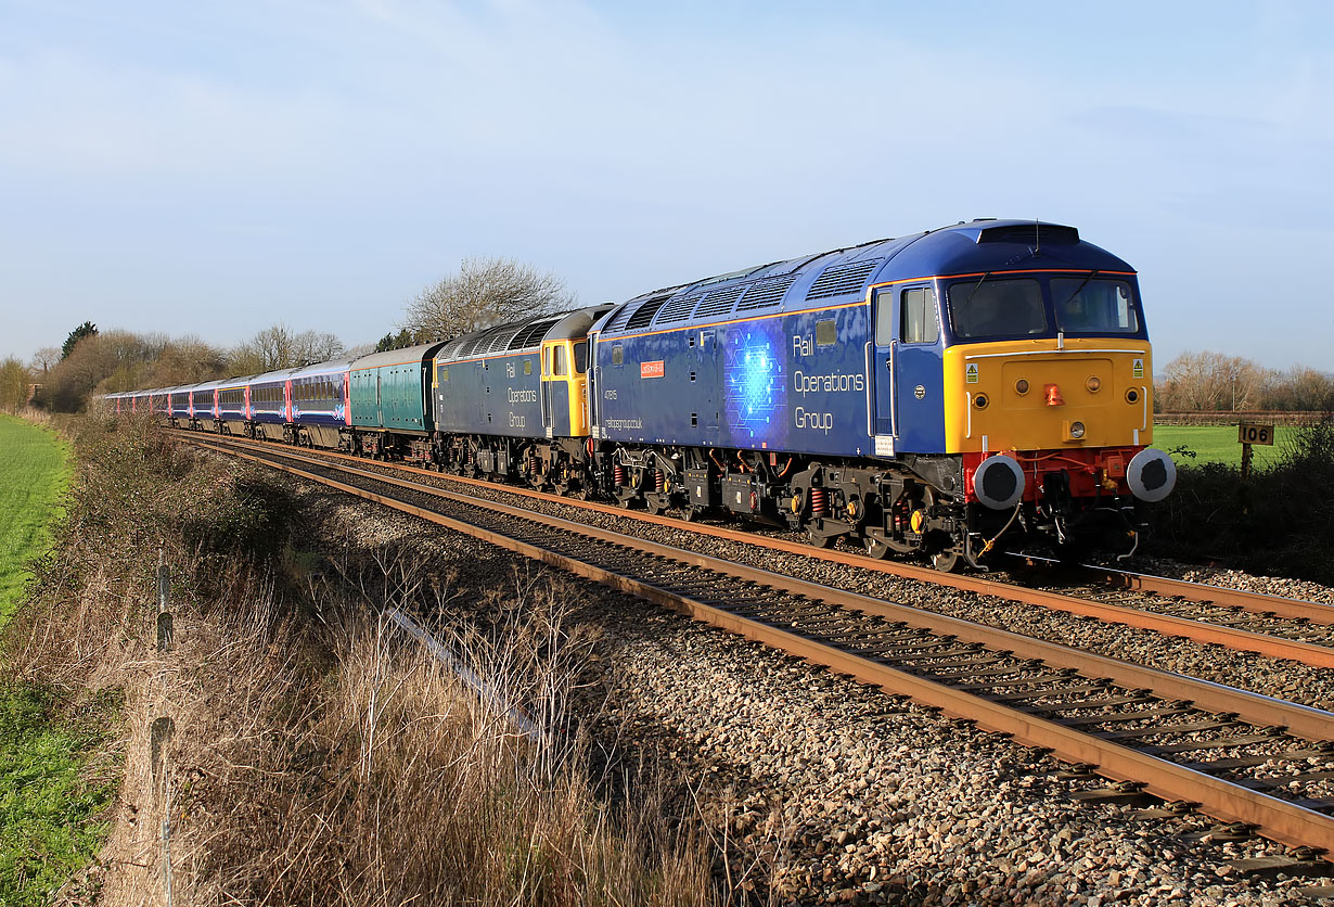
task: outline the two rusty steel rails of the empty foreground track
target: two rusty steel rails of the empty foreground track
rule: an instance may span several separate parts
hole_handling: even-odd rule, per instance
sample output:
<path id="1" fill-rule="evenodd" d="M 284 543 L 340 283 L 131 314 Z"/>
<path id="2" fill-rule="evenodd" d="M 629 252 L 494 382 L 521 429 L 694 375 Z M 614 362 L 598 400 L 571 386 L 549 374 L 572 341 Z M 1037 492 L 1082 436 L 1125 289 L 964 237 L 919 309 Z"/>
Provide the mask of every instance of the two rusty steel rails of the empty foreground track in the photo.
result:
<path id="1" fill-rule="evenodd" d="M 939 707 L 956 718 L 976 722 L 984 730 L 1010 734 L 1029 746 L 1047 747 L 1063 760 L 1095 766 L 1097 772 L 1109 779 L 1133 782 L 1166 800 L 1198 803 L 1201 810 L 1211 816 L 1225 822 L 1255 826 L 1261 834 L 1274 840 L 1317 848 L 1327 859 L 1334 851 L 1334 819 L 1321 811 L 1334 808 L 1334 804 L 1321 802 L 1314 804 L 1318 808 L 1311 808 L 1313 804 L 1279 799 L 1261 790 L 1253 790 L 1254 783 L 1231 782 L 1202 771 L 1201 766 L 1209 766 L 1207 762 L 1193 762 L 1183 766 L 1155 755 L 1151 746 L 1135 748 L 1126 744 L 1127 740 L 1154 735 L 1201 728 L 1226 730 L 1233 727 L 1238 719 L 1258 727 L 1281 723 L 1287 727 L 1291 735 L 1322 742 L 1334 736 L 1334 715 L 1330 712 L 1157 668 L 1091 655 L 1066 646 L 870 599 L 843 590 L 795 580 L 790 576 L 734 564 L 704 554 L 535 514 L 531 510 L 496 502 L 480 502 L 406 479 L 376 475 L 327 462 L 312 463 L 311 458 L 300 454 L 265 449 L 256 455 L 227 445 L 211 444 L 207 440 L 195 443 L 221 447 L 236 456 L 394 507 L 491 542 L 523 556 L 671 607 L 695 619 L 782 648 L 803 659 L 827 664 L 832 670 L 848 674 L 863 683 L 912 696 L 918 702 Z M 342 478 L 320 475 L 293 464 L 301 460 L 305 460 L 307 466 L 315 466 L 316 470 L 340 474 Z M 350 484 L 343 479 L 370 482 L 379 487 L 387 486 L 388 488 L 384 491 L 394 490 L 394 494 L 372 491 Z M 442 506 L 464 507 L 470 518 L 482 512 L 510 520 L 511 527 L 538 527 L 539 535 L 536 538 L 546 540 L 519 538 L 519 535 L 511 534 L 516 530 L 502 531 L 495 524 L 490 527 L 475 526 L 468 519 L 451 516 L 395 496 L 395 494 L 402 495 L 403 492 L 435 499 Z M 603 552 L 603 556 L 611 556 L 611 562 L 620 566 L 592 563 L 598 559 L 599 551 Z M 606 552 L 612 552 L 612 555 L 606 555 Z M 626 556 L 626 552 L 630 552 L 630 556 Z M 684 570 L 694 572 L 680 574 Z M 723 578 L 748 583 L 750 590 L 743 592 L 722 588 L 720 580 Z M 707 594 L 702 595 L 700 591 Z M 792 596 L 800 598 L 799 607 L 784 604 Z M 840 618 L 830 616 L 818 610 L 828 606 L 867 615 L 872 624 L 852 628 L 832 626 L 830 622 L 840 620 Z M 783 608 L 798 608 L 796 614 L 804 615 L 804 619 L 790 620 L 790 615 L 784 614 Z M 872 627 L 882 634 L 874 646 L 867 642 L 868 631 Z M 899 638 L 898 634 L 902 632 L 898 628 L 902 627 L 915 628 L 928 634 L 928 636 L 908 643 L 895 643 L 894 640 Z M 891 656 L 890 652 L 896 652 L 896 655 Z M 999 671 L 990 666 L 1014 659 L 1021 659 L 1018 667 L 1007 667 L 1005 671 L 1017 679 L 998 680 L 992 676 Z M 963 666 L 963 674 L 947 676 L 950 668 L 959 666 Z M 1051 668 L 1065 672 L 1051 674 Z M 1031 672 L 1037 672 L 1037 676 L 1030 676 Z M 1055 688 L 1039 687 L 1018 694 L 982 694 L 983 690 L 1014 690 L 1011 684 L 1021 687 L 1046 684 L 1074 675 L 1078 675 L 1081 683 L 1085 684 L 1077 684 L 1075 694 L 1093 691 L 1097 695 L 1098 691 L 1105 691 L 1107 682 L 1126 688 L 1129 694 L 1111 699 L 1075 702 L 1055 707 L 1055 710 L 1050 704 L 1041 704 L 1045 698 L 1062 692 Z M 968 678 L 984 679 L 980 683 L 974 682 L 971 686 L 967 683 L 960 686 L 958 683 L 960 678 L 964 680 Z M 1146 690 L 1161 698 L 1162 702 L 1147 699 L 1143 692 Z M 1065 692 L 1069 695 L 1069 691 Z M 1030 704 L 1027 708 L 1013 704 L 1026 700 L 1034 700 L 1038 704 Z M 1198 727 L 1162 724 L 1169 716 L 1197 711 L 1183 700 L 1194 702 L 1199 710 L 1210 712 L 1213 718 Z M 1125 704 L 1146 706 L 1146 710 L 1127 715 L 1106 712 L 1107 708 Z M 1094 718 L 1053 718 L 1053 715 L 1071 710 L 1095 710 L 1099 711 L 1099 715 Z M 1142 730 L 1090 732 L 1090 728 L 1098 724 L 1111 723 L 1115 727 L 1117 722 L 1139 720 L 1150 720 L 1151 724 Z M 1185 748 L 1235 747 L 1239 742 L 1273 739 L 1274 734 L 1275 731 L 1269 731 L 1249 738 L 1229 738 L 1213 744 L 1191 743 Z M 1174 747 L 1159 747 L 1158 750 L 1170 752 Z M 1291 759 L 1326 758 L 1326 750 L 1321 747 L 1315 750 L 1295 748 L 1286 756 Z M 1215 764 L 1254 766 L 1265 764 L 1266 759 L 1274 758 L 1278 756 L 1259 756 L 1258 762 L 1225 759 Z M 1278 784 L 1270 784 L 1270 787 L 1278 790 Z"/>

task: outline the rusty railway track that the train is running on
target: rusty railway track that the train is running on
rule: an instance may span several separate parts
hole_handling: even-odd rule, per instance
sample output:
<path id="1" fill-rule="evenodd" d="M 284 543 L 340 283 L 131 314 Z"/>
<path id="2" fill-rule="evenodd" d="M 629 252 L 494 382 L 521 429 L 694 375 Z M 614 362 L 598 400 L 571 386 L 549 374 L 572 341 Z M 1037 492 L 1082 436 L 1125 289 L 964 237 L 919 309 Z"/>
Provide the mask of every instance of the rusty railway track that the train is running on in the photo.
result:
<path id="1" fill-rule="evenodd" d="M 197 432 L 183 433 L 188 437 L 199 437 Z M 216 440 L 221 441 L 221 439 Z M 227 439 L 223 443 L 257 449 L 281 449 L 271 444 L 239 439 Z M 1014 579 L 942 574 L 914 564 L 875 560 L 850 551 L 814 548 L 804 542 L 772 535 L 743 532 L 722 526 L 686 523 L 670 516 L 626 511 L 611 504 L 559 498 L 528 488 L 496 486 L 480 479 L 442 475 L 399 463 L 367 462 L 363 458 L 329 451 L 307 451 L 307 455 L 328 462 L 356 463 L 363 468 L 384 472 L 420 475 L 430 478 L 434 483 L 447 482 L 460 487 L 502 490 L 504 494 L 532 500 L 878 571 L 936 587 L 992 595 L 1010 602 L 1147 630 L 1165 636 L 1179 636 L 1197 643 L 1255 652 L 1266 658 L 1286 659 L 1311 667 L 1334 668 L 1334 606 L 1329 604 L 1093 567 L 1073 574 L 1057 574 L 1053 570 L 1018 570 Z M 1019 560 L 1017 559 L 1017 567 L 1021 567 Z M 1050 562 L 1043 563 L 1041 559 L 1027 558 L 1026 560 L 1030 562 L 1030 566 L 1051 566 Z M 1015 579 L 1022 582 L 1015 582 Z"/>

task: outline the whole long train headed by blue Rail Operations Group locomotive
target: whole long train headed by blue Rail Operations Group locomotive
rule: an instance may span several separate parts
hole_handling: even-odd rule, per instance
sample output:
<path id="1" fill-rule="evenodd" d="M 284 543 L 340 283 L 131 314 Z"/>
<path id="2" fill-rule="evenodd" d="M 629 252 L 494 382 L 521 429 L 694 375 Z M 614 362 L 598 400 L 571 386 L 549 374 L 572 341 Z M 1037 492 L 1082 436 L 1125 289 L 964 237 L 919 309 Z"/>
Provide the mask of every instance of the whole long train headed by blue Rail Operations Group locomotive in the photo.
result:
<path id="1" fill-rule="evenodd" d="M 288 441 L 955 570 L 1033 540 L 1133 550 L 1138 503 L 1175 483 L 1151 375 L 1129 264 L 1073 227 L 974 220 L 199 389 L 217 431 L 241 388 L 249 435 L 280 417 Z M 304 376 L 317 407 L 292 404 Z M 108 400 L 207 428 L 177 412 L 191 391 Z"/>

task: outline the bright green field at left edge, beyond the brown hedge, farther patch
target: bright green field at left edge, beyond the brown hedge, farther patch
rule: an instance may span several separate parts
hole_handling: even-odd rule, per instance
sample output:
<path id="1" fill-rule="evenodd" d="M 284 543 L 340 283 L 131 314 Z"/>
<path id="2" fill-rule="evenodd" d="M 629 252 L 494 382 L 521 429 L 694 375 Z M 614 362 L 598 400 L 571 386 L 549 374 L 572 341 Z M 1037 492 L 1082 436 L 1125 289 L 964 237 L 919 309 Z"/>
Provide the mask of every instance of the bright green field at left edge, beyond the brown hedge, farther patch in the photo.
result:
<path id="1" fill-rule="evenodd" d="M 68 445 L 55 432 L 0 416 L 0 626 L 32 579 L 29 562 L 51 544 L 68 462 Z"/>

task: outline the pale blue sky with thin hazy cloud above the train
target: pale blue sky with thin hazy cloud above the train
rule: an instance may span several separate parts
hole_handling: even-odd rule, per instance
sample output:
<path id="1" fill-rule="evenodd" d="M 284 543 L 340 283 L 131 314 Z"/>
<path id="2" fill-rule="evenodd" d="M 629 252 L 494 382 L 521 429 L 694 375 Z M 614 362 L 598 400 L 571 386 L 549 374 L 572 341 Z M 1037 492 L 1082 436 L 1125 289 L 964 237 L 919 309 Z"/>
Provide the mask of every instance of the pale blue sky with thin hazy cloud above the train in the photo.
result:
<path id="1" fill-rule="evenodd" d="M 1334 371 L 1331 35 L 1325 0 L 0 0 L 0 357 L 374 343 L 471 256 L 594 304 L 1041 217 L 1139 271 L 1159 369 Z"/>

